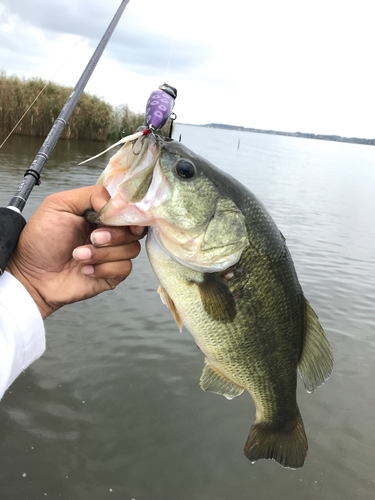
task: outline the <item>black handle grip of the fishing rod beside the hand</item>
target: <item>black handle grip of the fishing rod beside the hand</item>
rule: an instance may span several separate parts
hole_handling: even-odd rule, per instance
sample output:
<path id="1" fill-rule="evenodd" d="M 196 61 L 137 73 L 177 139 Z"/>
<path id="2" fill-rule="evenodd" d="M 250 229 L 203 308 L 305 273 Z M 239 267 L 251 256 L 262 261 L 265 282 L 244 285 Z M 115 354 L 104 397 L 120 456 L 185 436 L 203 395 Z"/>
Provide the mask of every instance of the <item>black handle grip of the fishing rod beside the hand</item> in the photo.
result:
<path id="1" fill-rule="evenodd" d="M 20 213 L 0 207 L 0 275 L 7 267 L 25 225 L 26 221 Z"/>

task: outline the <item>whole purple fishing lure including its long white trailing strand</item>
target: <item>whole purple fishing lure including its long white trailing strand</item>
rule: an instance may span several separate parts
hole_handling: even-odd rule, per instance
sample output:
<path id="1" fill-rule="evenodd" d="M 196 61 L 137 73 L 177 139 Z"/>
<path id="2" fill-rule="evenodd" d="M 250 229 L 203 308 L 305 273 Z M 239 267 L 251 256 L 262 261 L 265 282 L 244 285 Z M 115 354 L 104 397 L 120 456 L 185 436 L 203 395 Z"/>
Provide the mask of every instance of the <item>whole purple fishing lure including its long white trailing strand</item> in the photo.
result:
<path id="1" fill-rule="evenodd" d="M 112 144 L 112 146 L 107 148 L 105 151 L 102 151 L 98 155 L 92 156 L 91 158 L 82 161 L 81 163 L 79 163 L 79 165 L 83 165 L 84 163 L 90 160 L 98 158 L 99 156 L 103 155 L 104 153 L 114 148 L 115 146 L 118 146 L 119 144 L 135 141 L 136 139 L 142 137 L 143 135 L 147 135 L 150 132 L 156 132 L 157 130 L 160 130 L 161 128 L 164 127 L 169 118 L 171 118 L 172 121 L 175 120 L 176 115 L 172 113 L 172 110 L 174 108 L 176 97 L 177 97 L 177 90 L 174 87 L 171 87 L 167 83 L 160 85 L 157 88 L 157 90 L 154 90 L 151 93 L 150 97 L 147 100 L 146 127 L 143 128 L 143 130 L 135 132 L 134 134 L 131 135 L 127 135 L 126 137 L 123 137 L 118 142 L 115 142 L 115 144 Z M 172 133 L 172 125 L 169 133 L 170 136 L 171 133 Z"/>

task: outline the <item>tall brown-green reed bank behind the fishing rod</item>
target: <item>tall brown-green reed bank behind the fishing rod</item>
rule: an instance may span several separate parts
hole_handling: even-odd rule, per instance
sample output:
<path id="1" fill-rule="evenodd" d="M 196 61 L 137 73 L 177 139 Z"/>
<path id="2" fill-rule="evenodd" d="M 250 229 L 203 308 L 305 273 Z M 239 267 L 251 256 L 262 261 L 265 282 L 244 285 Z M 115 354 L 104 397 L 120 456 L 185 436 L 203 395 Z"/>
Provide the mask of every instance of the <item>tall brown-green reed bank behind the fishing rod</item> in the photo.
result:
<path id="1" fill-rule="evenodd" d="M 0 71 L 1 134 L 8 134 L 15 127 L 45 85 L 40 78 L 21 79 Z M 72 90 L 49 82 L 14 133 L 46 137 Z M 114 108 L 99 97 L 83 92 L 61 138 L 117 140 L 123 131 L 126 135 L 132 134 L 144 124 L 145 113 L 133 113 L 127 104 Z M 167 126 L 161 133 L 166 135 L 166 130 Z"/>

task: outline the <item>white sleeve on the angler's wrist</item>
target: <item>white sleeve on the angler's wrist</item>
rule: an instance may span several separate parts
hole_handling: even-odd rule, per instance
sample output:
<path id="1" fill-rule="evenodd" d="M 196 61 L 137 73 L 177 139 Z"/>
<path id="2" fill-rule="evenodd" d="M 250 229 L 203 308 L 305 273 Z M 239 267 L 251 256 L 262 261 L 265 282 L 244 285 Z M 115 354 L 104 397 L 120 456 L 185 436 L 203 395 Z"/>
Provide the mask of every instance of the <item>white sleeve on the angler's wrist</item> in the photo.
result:
<path id="1" fill-rule="evenodd" d="M 34 300 L 14 276 L 0 276 L 0 399 L 46 348 L 44 323 Z"/>

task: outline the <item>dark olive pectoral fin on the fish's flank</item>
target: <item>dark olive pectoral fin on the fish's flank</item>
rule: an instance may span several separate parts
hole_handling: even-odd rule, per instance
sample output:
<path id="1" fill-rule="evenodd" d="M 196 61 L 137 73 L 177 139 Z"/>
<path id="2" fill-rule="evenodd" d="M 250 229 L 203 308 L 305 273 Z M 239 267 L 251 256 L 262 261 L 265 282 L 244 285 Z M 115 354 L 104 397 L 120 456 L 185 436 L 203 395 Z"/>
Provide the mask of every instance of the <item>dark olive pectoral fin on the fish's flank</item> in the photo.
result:
<path id="1" fill-rule="evenodd" d="M 203 307 L 215 321 L 232 323 L 237 314 L 236 302 L 228 285 L 215 273 L 206 273 L 198 285 Z"/>

